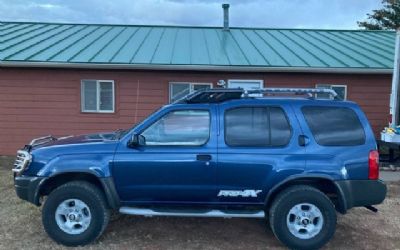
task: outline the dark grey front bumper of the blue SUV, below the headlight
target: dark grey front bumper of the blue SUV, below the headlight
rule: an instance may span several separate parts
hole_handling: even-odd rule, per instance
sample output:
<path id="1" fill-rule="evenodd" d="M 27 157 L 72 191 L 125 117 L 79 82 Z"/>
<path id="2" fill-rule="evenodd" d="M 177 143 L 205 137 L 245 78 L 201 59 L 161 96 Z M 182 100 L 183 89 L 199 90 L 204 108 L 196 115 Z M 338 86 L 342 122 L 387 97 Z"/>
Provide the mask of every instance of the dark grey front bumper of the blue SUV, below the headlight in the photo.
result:
<path id="1" fill-rule="evenodd" d="M 14 187 L 17 196 L 39 206 L 39 186 L 45 179 L 46 177 L 38 176 L 15 176 Z"/>

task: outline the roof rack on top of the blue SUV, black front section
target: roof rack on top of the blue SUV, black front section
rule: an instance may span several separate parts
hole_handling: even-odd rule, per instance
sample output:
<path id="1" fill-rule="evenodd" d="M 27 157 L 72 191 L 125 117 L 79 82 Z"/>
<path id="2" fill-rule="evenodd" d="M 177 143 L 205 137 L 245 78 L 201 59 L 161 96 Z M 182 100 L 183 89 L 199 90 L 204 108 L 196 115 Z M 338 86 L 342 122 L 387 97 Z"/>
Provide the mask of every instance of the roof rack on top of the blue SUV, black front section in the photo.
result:
<path id="1" fill-rule="evenodd" d="M 329 94 L 333 99 L 336 99 L 337 94 L 333 89 L 323 88 L 263 88 L 244 90 L 242 88 L 235 89 L 206 89 L 193 92 L 183 98 L 177 100 L 175 103 L 219 103 L 228 100 L 240 99 L 242 97 L 254 97 L 257 94 L 295 94 L 295 95 L 308 95 L 310 98 L 315 98 L 316 94 Z M 253 96 L 251 96 L 253 95 Z"/>

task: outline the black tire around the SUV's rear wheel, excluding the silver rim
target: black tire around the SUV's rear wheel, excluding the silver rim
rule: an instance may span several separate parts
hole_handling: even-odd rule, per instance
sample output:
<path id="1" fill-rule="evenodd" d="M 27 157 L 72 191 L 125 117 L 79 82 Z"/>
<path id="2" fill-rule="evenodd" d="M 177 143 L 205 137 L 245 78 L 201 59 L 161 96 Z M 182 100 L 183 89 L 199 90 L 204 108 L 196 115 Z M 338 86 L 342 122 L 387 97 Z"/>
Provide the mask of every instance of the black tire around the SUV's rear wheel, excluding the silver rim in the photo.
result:
<path id="1" fill-rule="evenodd" d="M 290 232 L 287 223 L 290 210 L 301 203 L 316 206 L 323 218 L 321 230 L 309 239 L 296 237 Z M 273 233 L 279 241 L 291 249 L 321 248 L 335 233 L 336 220 L 336 210 L 331 200 L 318 189 L 305 185 L 292 186 L 283 190 L 275 198 L 269 210 L 269 221 Z"/>

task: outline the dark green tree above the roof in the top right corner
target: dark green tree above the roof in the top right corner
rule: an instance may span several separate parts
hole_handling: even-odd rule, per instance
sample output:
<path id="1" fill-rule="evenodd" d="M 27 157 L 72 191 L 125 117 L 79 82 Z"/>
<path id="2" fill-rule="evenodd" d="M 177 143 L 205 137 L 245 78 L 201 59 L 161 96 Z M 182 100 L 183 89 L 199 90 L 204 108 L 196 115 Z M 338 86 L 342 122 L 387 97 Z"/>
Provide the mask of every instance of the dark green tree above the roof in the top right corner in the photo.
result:
<path id="1" fill-rule="evenodd" d="M 357 22 L 367 30 L 397 30 L 400 28 L 400 0 L 382 0 L 383 8 L 367 14 L 366 21 Z"/>

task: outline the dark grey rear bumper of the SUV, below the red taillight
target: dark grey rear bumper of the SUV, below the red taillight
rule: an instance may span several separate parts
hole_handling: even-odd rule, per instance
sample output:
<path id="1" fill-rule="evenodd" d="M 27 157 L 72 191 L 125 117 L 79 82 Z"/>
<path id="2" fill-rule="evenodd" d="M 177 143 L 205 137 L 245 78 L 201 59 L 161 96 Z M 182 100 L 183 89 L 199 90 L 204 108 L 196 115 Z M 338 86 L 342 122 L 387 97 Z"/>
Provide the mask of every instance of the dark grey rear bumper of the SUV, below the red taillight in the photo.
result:
<path id="1" fill-rule="evenodd" d="M 381 180 L 343 180 L 335 183 L 342 193 L 344 211 L 380 204 L 386 197 L 386 184 Z"/>

